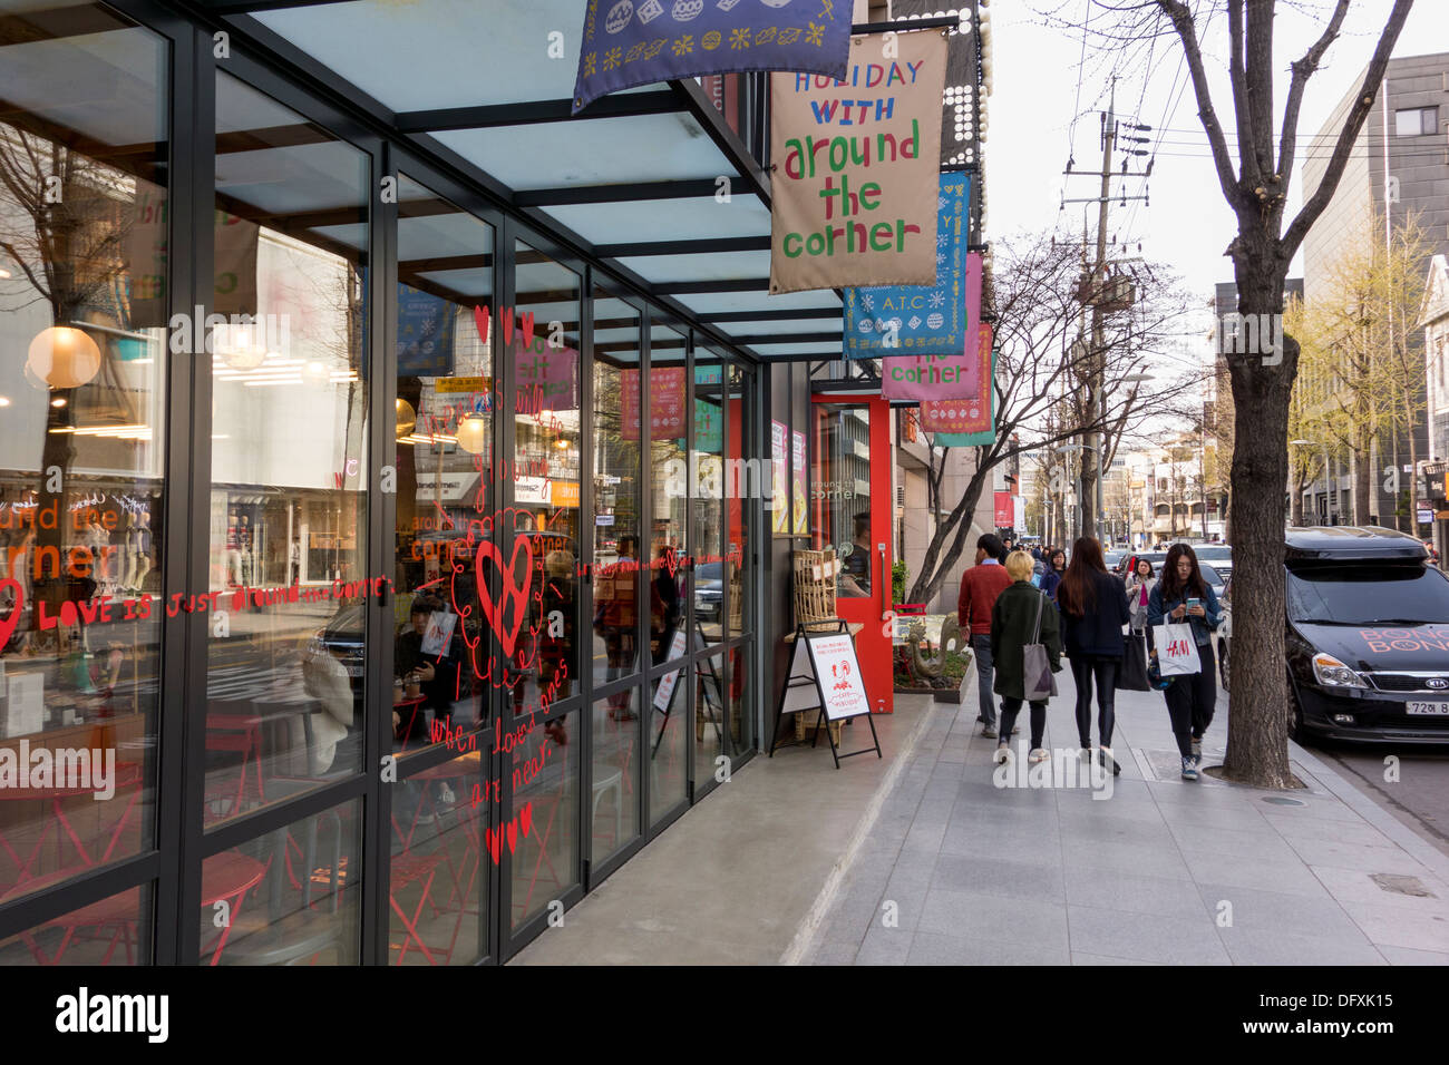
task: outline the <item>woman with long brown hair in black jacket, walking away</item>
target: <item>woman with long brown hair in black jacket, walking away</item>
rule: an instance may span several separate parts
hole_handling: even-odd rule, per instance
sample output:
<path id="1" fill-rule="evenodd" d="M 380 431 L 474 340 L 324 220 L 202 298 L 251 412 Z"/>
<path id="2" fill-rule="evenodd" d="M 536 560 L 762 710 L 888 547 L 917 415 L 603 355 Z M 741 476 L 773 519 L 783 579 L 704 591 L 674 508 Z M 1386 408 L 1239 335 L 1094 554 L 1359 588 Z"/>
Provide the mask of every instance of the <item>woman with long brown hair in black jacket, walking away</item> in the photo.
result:
<path id="1" fill-rule="evenodd" d="M 1097 678 L 1097 735 L 1101 745 L 1098 759 L 1111 762 L 1114 774 L 1122 772 L 1111 753 L 1113 703 L 1117 694 L 1117 671 L 1122 668 L 1122 626 L 1130 619 L 1122 581 L 1107 572 L 1101 545 L 1082 536 L 1072 545 L 1072 561 L 1056 590 L 1056 604 L 1062 610 L 1062 642 L 1072 661 L 1077 682 L 1077 736 L 1082 751 L 1091 756 L 1091 682 Z"/>

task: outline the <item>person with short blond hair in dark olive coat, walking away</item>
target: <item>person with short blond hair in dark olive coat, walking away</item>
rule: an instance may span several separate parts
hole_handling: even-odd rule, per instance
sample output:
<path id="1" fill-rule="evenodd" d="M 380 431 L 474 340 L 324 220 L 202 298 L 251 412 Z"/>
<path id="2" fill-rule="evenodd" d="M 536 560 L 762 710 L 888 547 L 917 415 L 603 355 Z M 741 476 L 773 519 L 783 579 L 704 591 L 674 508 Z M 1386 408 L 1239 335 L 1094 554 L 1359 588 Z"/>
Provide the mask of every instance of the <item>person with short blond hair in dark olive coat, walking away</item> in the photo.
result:
<path id="1" fill-rule="evenodd" d="M 991 609 L 991 661 L 995 664 L 993 690 L 1001 696 L 1001 742 L 997 743 L 995 761 L 1010 758 L 1007 738 L 1016 724 L 1016 714 L 1026 698 L 1026 680 L 1022 648 L 1027 643 L 1045 643 L 1046 658 L 1052 672 L 1062 671 L 1061 625 L 1053 604 L 1037 588 L 1032 587 L 1033 562 L 1024 551 L 1013 552 L 1006 561 L 1011 584 L 997 596 Z M 1036 632 L 1037 606 L 1040 606 L 1040 636 Z M 1046 732 L 1046 700 L 1032 703 L 1032 755 L 1033 762 L 1048 758 L 1042 749 Z"/>

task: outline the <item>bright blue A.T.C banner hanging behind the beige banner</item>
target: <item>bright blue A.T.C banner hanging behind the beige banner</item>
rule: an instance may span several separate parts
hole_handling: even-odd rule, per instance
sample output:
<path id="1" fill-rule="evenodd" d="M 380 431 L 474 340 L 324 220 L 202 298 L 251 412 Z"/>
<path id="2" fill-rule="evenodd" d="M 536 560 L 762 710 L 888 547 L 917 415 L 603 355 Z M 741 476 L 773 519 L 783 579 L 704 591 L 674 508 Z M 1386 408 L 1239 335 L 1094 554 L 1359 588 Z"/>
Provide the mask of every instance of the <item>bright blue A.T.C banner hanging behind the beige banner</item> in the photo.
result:
<path id="1" fill-rule="evenodd" d="M 959 355 L 966 348 L 966 206 L 971 175 L 940 175 L 936 284 L 845 290 L 845 356 Z M 980 274 L 978 274 L 980 277 Z M 980 303 L 980 283 L 978 283 Z"/>

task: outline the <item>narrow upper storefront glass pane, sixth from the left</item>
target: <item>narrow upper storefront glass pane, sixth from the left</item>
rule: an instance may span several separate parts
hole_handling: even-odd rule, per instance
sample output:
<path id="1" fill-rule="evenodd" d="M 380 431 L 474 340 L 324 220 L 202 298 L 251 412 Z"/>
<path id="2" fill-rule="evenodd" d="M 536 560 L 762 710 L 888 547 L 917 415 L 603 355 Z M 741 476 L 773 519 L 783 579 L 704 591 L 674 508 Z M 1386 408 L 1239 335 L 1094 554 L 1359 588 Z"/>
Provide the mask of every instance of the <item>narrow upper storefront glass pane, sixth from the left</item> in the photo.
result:
<path id="1" fill-rule="evenodd" d="M 688 555 L 688 468 L 685 451 L 685 356 L 688 346 L 668 326 L 649 326 L 649 464 L 653 527 L 649 530 L 649 649 L 655 664 L 685 651 L 684 606 Z"/>

